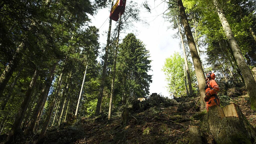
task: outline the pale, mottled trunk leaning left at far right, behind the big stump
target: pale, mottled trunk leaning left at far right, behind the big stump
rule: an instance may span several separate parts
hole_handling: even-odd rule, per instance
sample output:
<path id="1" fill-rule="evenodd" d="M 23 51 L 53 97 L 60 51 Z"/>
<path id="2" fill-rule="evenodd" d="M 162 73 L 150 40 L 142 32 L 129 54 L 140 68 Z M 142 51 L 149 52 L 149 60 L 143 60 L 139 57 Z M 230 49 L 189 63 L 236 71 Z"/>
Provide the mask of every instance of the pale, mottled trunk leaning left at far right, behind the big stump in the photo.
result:
<path id="1" fill-rule="evenodd" d="M 248 91 L 248 94 L 249 94 L 250 100 L 251 100 L 251 109 L 256 110 L 256 89 L 255 89 L 256 82 L 253 78 L 250 68 L 246 64 L 246 61 L 244 60 L 244 57 L 243 57 L 241 50 L 237 44 L 234 34 L 230 28 L 230 25 L 228 23 L 228 20 L 225 16 L 224 11 L 221 9 L 217 0 L 213 0 L 213 2 L 216 6 L 217 14 L 220 18 L 220 22 L 221 22 L 222 27 L 226 33 L 227 38 L 228 38 L 233 55 L 237 61 L 238 67 L 240 68 L 241 73 L 243 75 L 245 86 L 246 86 L 246 89 Z"/>

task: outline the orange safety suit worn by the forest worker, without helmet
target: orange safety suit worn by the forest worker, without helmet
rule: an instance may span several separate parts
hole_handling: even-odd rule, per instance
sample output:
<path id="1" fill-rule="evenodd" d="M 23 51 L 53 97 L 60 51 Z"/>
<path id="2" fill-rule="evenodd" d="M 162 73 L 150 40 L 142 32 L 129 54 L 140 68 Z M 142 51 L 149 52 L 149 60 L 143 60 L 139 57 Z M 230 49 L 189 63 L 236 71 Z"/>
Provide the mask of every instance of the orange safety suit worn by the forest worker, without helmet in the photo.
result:
<path id="1" fill-rule="evenodd" d="M 206 101 L 207 111 L 208 111 L 209 107 L 212 107 L 215 105 L 220 106 L 220 100 L 219 100 L 219 97 L 217 96 L 219 90 L 220 90 L 220 88 L 215 80 L 211 79 L 211 80 L 207 81 L 205 93 L 210 93 L 210 97 L 208 97 L 207 101 Z"/>

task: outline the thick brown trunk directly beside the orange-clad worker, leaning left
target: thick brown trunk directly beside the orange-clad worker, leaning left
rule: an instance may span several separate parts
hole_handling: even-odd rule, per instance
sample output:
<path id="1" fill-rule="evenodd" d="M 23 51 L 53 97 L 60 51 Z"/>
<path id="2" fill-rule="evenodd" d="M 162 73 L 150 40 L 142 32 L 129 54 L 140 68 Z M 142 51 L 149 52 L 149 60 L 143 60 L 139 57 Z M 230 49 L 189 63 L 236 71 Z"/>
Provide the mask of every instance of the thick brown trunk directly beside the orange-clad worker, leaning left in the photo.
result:
<path id="1" fill-rule="evenodd" d="M 196 44 L 194 42 L 194 38 L 188 23 L 188 19 L 185 13 L 185 9 L 182 3 L 182 0 L 177 0 L 178 1 L 178 5 L 179 5 L 179 11 L 180 11 L 180 15 L 182 18 L 182 22 L 183 22 L 183 26 L 184 26 L 184 30 L 187 36 L 187 40 L 188 40 L 188 45 L 189 45 L 189 49 L 190 49 L 190 53 L 191 53 L 191 57 L 194 63 L 194 67 L 195 67 L 195 71 L 196 71 L 196 77 L 197 77 L 197 81 L 198 81 L 198 87 L 199 87 L 199 92 L 200 92 L 200 103 L 201 103 L 201 110 L 204 110 L 206 108 L 206 103 L 204 101 L 205 98 L 205 76 L 204 76 L 204 71 L 202 69 L 202 65 L 201 65 L 201 61 L 196 49 Z"/>

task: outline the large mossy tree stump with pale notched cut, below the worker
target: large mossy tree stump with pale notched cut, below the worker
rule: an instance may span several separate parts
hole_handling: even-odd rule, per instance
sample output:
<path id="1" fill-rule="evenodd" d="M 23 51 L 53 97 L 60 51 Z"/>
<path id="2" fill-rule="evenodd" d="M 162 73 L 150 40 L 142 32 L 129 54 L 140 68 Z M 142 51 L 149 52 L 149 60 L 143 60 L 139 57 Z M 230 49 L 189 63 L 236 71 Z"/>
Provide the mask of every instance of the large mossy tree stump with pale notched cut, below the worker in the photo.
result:
<path id="1" fill-rule="evenodd" d="M 200 129 L 202 133 L 212 135 L 217 144 L 256 144 L 255 128 L 235 104 L 224 108 L 209 107 L 202 117 Z M 207 140 L 203 142 L 209 143 Z"/>

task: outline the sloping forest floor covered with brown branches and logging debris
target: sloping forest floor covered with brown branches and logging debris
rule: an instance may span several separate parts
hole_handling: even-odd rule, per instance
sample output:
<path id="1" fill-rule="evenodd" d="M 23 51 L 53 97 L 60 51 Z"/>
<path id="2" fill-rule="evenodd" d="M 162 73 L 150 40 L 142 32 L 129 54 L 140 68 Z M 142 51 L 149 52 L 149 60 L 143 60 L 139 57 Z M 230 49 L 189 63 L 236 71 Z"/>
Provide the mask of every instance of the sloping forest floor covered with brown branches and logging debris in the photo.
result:
<path id="1" fill-rule="evenodd" d="M 220 97 L 222 104 L 239 105 L 248 121 L 256 127 L 256 113 L 250 110 L 248 95 L 236 98 Z M 130 121 L 122 126 L 122 118 L 107 120 L 98 118 L 80 118 L 73 126 L 60 127 L 48 131 L 39 143 L 169 143 L 189 142 L 189 125 L 200 125 L 198 120 L 198 99 L 176 102 L 172 106 L 155 106 L 139 113 L 131 113 Z M 36 136 L 33 138 L 36 139 Z M 26 143 L 34 143 L 33 140 Z"/>

